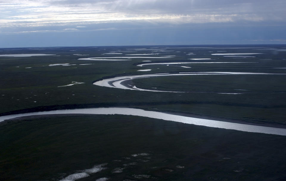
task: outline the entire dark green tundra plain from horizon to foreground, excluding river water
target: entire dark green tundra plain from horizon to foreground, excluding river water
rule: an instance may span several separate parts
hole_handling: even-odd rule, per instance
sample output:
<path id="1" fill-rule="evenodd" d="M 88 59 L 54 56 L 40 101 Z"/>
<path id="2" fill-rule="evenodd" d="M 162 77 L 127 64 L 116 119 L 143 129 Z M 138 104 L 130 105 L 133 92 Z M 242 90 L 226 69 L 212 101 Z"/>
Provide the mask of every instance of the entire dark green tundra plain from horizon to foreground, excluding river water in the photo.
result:
<path id="1" fill-rule="evenodd" d="M 0 116 L 125 107 L 286 128 L 285 47 L 1 48 Z M 49 55 L 1 56 L 38 53 Z M 212 55 L 223 53 L 231 55 Z M 83 60 L 91 57 L 107 60 Z M 189 63 L 171 64 L 176 62 Z M 142 63 L 164 64 L 137 66 Z M 126 82 L 153 91 L 93 85 L 117 76 L 186 72 L 264 74 L 153 76 Z M 0 122 L 0 135 L 0 180 L 286 179 L 286 137 L 273 134 L 140 116 L 60 114 Z M 89 177 L 67 178 L 100 164 L 104 169 Z"/>

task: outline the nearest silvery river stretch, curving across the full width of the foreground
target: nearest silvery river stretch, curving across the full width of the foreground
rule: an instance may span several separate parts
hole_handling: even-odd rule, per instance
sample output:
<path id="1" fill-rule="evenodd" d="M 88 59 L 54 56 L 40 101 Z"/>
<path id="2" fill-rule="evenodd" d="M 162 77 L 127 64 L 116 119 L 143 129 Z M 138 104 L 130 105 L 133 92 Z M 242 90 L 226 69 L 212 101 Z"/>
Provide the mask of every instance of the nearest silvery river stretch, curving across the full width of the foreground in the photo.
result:
<path id="1" fill-rule="evenodd" d="M 272 127 L 257 126 L 257 125 L 239 124 L 233 122 L 215 121 L 210 119 L 201 119 L 201 118 L 174 115 L 171 113 L 144 111 L 142 109 L 135 109 L 135 108 L 85 108 L 85 109 L 67 109 L 67 110 L 13 114 L 8 116 L 0 116 L 0 122 L 6 119 L 13 119 L 22 116 L 46 115 L 46 114 L 122 114 L 122 115 L 133 115 L 133 116 L 144 116 L 156 119 L 163 119 L 167 121 L 182 122 L 186 124 L 202 125 L 214 128 L 225 128 L 238 131 L 286 136 L 286 129 L 283 128 L 272 128 Z"/>

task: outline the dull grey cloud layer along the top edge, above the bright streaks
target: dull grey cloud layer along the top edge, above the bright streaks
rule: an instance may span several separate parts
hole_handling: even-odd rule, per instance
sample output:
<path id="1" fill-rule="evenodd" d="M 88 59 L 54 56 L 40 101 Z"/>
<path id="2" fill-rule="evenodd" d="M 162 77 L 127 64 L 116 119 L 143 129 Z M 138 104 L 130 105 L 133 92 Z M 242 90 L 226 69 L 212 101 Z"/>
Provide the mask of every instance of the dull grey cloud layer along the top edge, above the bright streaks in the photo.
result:
<path id="1" fill-rule="evenodd" d="M 63 0 L 48 1 L 49 4 L 91 4 L 108 10 L 152 13 L 273 13 L 286 14 L 284 0 Z M 283 18 L 285 16 L 282 16 Z"/>

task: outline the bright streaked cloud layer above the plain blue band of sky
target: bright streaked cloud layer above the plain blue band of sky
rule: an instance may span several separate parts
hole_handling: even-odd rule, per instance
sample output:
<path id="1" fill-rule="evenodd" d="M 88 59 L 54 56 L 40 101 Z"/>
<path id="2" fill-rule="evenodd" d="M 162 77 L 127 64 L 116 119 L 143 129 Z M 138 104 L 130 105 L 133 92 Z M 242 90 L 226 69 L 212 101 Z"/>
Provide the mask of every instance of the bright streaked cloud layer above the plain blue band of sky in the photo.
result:
<path id="1" fill-rule="evenodd" d="M 129 23 L 137 27 L 285 24 L 285 9 L 284 0 L 2 0 L 0 28 L 2 32 L 36 32 L 42 31 L 42 27 L 78 31 L 108 29 L 114 26 L 91 25 L 111 23 Z M 94 28 L 88 29 L 91 27 Z"/>

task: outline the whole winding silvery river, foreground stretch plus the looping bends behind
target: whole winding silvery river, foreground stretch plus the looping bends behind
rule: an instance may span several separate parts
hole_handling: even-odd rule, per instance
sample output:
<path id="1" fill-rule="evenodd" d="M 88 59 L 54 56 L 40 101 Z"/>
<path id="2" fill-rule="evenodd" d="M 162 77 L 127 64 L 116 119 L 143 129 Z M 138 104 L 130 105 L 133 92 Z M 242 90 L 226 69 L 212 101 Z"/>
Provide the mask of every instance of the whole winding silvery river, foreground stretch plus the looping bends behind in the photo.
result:
<path id="1" fill-rule="evenodd" d="M 244 53 L 250 54 L 250 53 Z M 254 53 L 252 53 L 254 54 Z M 258 54 L 258 53 L 255 53 Z M 212 54 L 212 55 L 230 55 L 230 54 Z M 240 55 L 237 53 L 237 55 Z M 127 60 L 122 58 L 170 58 L 170 57 L 93 57 L 84 58 L 80 60 L 118 60 L 113 58 L 120 58 L 120 60 Z M 137 66 L 142 67 L 145 65 L 156 65 L 156 64 L 188 64 L 188 63 L 255 63 L 255 62 L 169 62 L 169 63 L 142 63 Z M 150 69 L 147 69 L 150 70 Z M 153 91 L 153 92 L 182 92 L 182 91 L 162 91 L 162 90 L 149 90 L 137 88 L 135 85 L 128 85 L 127 81 L 132 79 L 159 77 L 159 76 L 193 76 L 193 75 L 237 75 L 237 74 L 255 74 L 255 75 L 269 75 L 277 73 L 253 73 L 253 72 L 179 72 L 179 73 L 154 73 L 144 75 L 132 75 L 132 76 L 118 76 L 113 78 L 101 79 L 94 82 L 94 85 L 104 86 L 109 88 L 120 88 L 137 91 Z M 280 74 L 279 74 L 280 75 Z M 285 74 L 284 74 L 285 75 Z M 126 82 L 125 82 L 126 81 Z M 236 94 L 236 93 L 233 93 Z M 13 114 L 8 116 L 0 116 L 0 122 L 13 119 L 22 116 L 33 116 L 33 115 L 49 115 L 49 114 L 121 114 L 121 115 L 133 115 L 133 116 L 144 116 L 149 118 L 163 119 L 167 121 L 182 122 L 186 124 L 208 126 L 214 128 L 225 128 L 238 131 L 254 132 L 254 133 L 265 133 L 265 134 L 276 134 L 286 136 L 286 129 L 284 128 L 273 128 L 258 125 L 247 125 L 233 122 L 223 122 L 210 119 L 193 118 L 188 116 L 181 116 L 172 113 L 162 113 L 156 111 L 145 111 L 142 109 L 135 108 L 84 108 L 84 109 L 67 109 L 67 110 L 55 110 L 55 111 L 43 111 L 43 112 L 32 112 L 23 114 Z"/>

